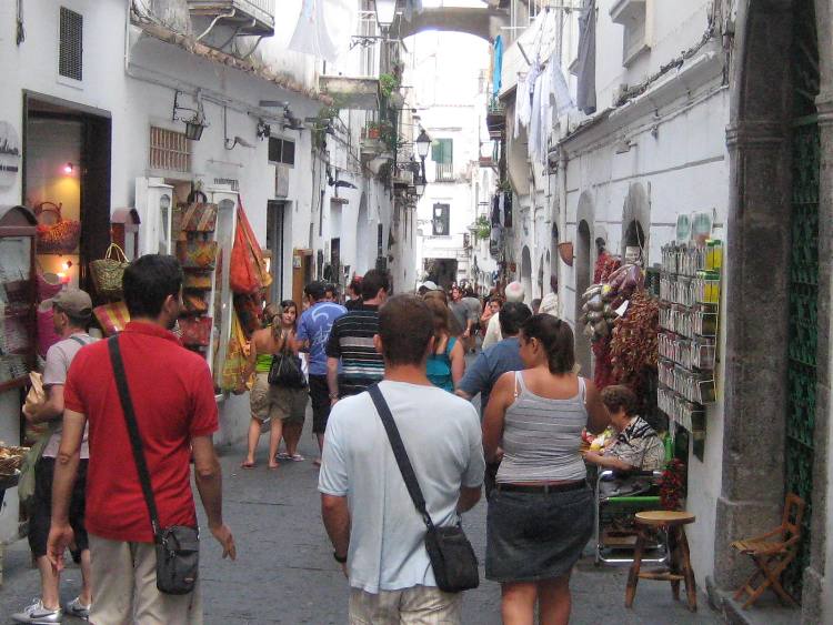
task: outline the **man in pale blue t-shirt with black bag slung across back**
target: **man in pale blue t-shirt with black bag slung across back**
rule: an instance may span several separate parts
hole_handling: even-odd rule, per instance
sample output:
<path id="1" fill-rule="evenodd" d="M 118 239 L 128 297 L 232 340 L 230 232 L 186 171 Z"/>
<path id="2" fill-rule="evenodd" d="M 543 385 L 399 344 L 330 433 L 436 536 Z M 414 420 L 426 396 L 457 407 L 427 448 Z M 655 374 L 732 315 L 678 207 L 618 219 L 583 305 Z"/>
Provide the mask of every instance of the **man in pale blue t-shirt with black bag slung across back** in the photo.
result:
<path id="1" fill-rule="evenodd" d="M 425 359 L 433 319 L 413 295 L 379 312 L 379 384 L 438 526 L 480 500 L 483 446 L 474 407 L 433 386 Z M 408 494 L 369 393 L 332 409 L 319 476 L 321 511 L 333 557 L 350 578 L 351 623 L 460 623 L 462 595 L 436 587 L 425 551 L 425 525 Z"/>

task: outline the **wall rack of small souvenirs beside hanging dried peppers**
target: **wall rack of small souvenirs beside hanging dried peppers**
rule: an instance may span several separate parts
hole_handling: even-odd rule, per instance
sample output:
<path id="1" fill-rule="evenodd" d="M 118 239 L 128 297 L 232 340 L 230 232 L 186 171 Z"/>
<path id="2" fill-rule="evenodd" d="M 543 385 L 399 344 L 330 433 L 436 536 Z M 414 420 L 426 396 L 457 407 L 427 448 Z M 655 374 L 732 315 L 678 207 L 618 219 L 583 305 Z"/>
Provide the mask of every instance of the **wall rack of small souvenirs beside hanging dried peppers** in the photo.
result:
<path id="1" fill-rule="evenodd" d="M 701 461 L 706 406 L 717 394 L 722 264 L 720 241 L 662 248 L 656 403 L 671 421 L 691 433 L 694 455 Z"/>

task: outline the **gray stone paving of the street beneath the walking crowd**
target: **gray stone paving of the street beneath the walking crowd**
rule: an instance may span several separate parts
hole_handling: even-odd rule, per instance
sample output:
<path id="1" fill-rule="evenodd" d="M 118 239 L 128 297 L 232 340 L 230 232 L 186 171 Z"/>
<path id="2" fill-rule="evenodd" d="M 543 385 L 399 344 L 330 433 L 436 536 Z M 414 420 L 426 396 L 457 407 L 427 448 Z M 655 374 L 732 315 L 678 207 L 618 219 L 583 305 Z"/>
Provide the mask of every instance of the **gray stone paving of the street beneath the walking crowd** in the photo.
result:
<path id="1" fill-rule="evenodd" d="M 284 463 L 277 472 L 264 466 L 265 437 L 260 466 L 238 468 L 242 448 L 222 451 L 225 516 L 237 537 L 238 561 L 222 561 L 218 545 L 204 538 L 202 588 L 205 623 L 210 625 L 341 624 L 345 623 L 348 588 L 327 540 L 315 492 L 318 472 L 311 462 Z M 304 434 L 302 452 L 314 456 L 314 443 Z M 466 532 L 481 562 L 484 553 L 485 504 L 465 518 Z M 6 584 L 0 591 L 0 623 L 38 594 L 38 575 L 29 567 L 24 541 L 9 547 Z M 482 574 L 482 572 L 481 572 Z M 70 601 L 79 588 L 79 572 L 64 575 L 62 596 Z M 635 606 L 623 607 L 625 572 L 595 568 L 583 558 L 573 577 L 573 623 L 689 624 L 720 623 L 716 613 L 699 596 L 700 612 L 691 614 L 674 603 L 668 584 L 640 584 Z M 66 621 L 71 623 L 70 619 Z M 466 594 L 464 622 L 500 623 L 500 589 L 484 582 Z"/>

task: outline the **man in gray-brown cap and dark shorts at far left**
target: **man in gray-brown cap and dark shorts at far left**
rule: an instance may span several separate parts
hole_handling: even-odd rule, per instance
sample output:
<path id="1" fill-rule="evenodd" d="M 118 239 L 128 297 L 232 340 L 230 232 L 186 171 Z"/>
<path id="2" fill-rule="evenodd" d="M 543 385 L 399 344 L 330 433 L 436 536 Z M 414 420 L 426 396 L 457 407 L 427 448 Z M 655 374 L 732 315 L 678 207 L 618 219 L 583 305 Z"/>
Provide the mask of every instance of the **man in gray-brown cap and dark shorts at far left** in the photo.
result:
<path id="1" fill-rule="evenodd" d="M 63 385 L 67 382 L 69 365 L 84 345 L 92 343 L 87 327 L 92 317 L 90 295 L 79 289 L 64 289 L 50 300 L 52 303 L 52 323 L 56 333 L 61 337 L 47 352 L 47 365 L 43 369 L 43 389 L 47 401 L 33 407 L 24 407 L 23 414 L 31 424 L 47 423 L 44 436 L 49 442 L 34 467 L 34 495 L 29 521 L 29 546 L 38 562 L 41 579 L 40 598 L 12 618 L 18 623 L 60 623 L 61 606 L 59 583 L 60 574 L 52 571 L 47 557 L 47 538 L 52 518 L 52 477 L 56 457 L 61 444 L 61 419 L 63 417 Z M 70 524 L 74 532 L 76 553 L 80 554 L 83 585 L 81 594 L 63 608 L 71 616 L 87 618 L 90 608 L 90 548 L 84 528 L 84 481 L 87 464 L 90 457 L 84 432 L 81 446 L 79 480 L 72 492 L 70 503 Z"/>

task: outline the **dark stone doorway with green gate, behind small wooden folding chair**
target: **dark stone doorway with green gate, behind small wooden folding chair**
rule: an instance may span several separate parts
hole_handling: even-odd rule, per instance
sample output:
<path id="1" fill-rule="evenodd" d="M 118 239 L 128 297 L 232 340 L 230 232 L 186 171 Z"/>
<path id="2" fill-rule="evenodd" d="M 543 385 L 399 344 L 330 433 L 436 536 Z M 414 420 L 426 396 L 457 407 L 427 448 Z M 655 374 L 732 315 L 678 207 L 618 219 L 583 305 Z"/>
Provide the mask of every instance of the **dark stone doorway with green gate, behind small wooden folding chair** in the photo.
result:
<path id="1" fill-rule="evenodd" d="M 805 547 L 784 582 L 801 594 L 807 623 L 830 619 L 821 616 L 829 455 L 826 444 L 815 448 L 827 440 L 831 410 L 833 181 L 821 171 L 833 129 L 829 115 L 820 128 L 816 109 L 833 107 L 830 49 L 820 58 L 817 43 L 830 41 L 830 22 L 825 2 L 743 3 L 726 132 L 731 288 L 715 581 L 723 588 L 743 581 L 745 563 L 725 545 L 739 530 L 754 535 L 777 525 L 784 493 L 797 490 L 812 507 Z"/>

